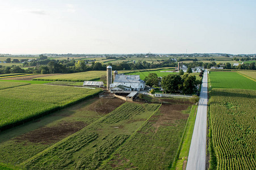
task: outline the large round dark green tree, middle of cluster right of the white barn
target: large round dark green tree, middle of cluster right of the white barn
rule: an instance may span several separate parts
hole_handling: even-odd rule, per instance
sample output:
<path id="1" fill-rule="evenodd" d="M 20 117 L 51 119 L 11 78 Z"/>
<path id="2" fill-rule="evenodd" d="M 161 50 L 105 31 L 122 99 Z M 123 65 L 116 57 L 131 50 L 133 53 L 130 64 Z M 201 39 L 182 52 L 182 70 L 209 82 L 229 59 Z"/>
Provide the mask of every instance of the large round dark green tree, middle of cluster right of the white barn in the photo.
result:
<path id="1" fill-rule="evenodd" d="M 163 76 L 161 86 L 169 92 L 177 92 L 181 90 L 182 78 L 177 74 L 168 74 Z"/>

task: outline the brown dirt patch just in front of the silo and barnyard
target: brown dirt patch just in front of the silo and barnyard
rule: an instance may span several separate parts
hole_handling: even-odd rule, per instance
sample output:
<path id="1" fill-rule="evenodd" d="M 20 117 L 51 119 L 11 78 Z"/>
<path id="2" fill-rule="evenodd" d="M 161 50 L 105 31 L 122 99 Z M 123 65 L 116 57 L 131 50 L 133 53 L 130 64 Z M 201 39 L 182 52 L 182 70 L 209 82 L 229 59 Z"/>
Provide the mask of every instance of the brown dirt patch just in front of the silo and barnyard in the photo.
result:
<path id="1" fill-rule="evenodd" d="M 114 111 L 114 109 L 116 109 L 123 103 L 125 103 L 125 101 L 118 98 L 113 98 L 113 99 L 99 98 L 96 102 L 90 105 L 89 111 L 95 111 L 100 115 L 104 115 Z"/>

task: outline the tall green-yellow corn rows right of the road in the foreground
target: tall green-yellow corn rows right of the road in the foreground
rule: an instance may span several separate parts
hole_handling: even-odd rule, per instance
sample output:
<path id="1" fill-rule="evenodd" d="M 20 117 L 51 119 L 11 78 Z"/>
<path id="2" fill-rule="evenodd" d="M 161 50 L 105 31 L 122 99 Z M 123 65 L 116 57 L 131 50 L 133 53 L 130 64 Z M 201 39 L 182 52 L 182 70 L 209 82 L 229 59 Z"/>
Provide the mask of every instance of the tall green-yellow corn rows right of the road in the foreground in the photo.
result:
<path id="1" fill-rule="evenodd" d="M 212 90 L 212 168 L 256 169 L 256 91 Z"/>

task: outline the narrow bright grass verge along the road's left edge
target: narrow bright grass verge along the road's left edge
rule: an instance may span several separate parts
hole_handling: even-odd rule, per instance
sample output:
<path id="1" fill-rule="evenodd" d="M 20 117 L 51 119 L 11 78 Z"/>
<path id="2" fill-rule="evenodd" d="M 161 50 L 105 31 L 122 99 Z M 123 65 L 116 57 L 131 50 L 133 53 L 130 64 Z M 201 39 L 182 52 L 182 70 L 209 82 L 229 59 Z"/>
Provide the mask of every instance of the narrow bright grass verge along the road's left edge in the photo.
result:
<path id="1" fill-rule="evenodd" d="M 183 140 L 182 140 L 178 160 L 174 162 L 173 164 L 174 167 L 171 169 L 183 169 L 183 167 L 186 168 L 188 153 L 190 151 L 190 144 L 191 144 L 192 134 L 194 131 L 194 125 L 196 120 L 197 107 L 198 107 L 197 105 L 192 105 L 190 116 L 188 117 L 188 120 L 187 120 L 186 129 L 184 130 Z"/>

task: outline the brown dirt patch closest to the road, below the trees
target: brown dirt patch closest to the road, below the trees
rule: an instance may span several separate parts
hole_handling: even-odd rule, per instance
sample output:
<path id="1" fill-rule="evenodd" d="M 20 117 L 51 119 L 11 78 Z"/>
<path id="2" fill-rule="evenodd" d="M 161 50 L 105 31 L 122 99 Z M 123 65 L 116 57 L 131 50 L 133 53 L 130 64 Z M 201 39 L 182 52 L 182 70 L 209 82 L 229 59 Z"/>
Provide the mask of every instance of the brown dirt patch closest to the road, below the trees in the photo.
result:
<path id="1" fill-rule="evenodd" d="M 160 126 L 167 126 L 170 123 L 175 125 L 177 120 L 186 120 L 189 115 L 182 113 L 182 111 L 187 108 L 188 105 L 185 104 L 162 104 L 160 107 L 161 115 L 156 115 L 156 118 L 152 117 L 153 126 L 156 127 L 155 133 Z"/>

